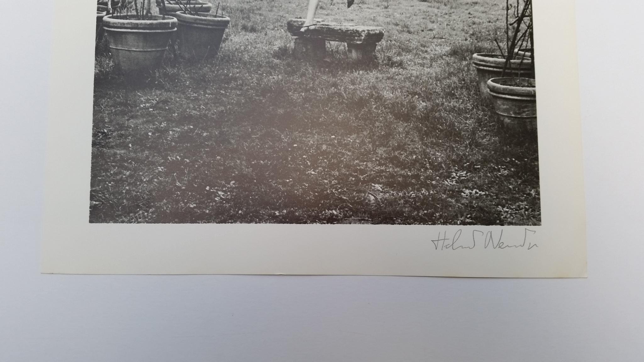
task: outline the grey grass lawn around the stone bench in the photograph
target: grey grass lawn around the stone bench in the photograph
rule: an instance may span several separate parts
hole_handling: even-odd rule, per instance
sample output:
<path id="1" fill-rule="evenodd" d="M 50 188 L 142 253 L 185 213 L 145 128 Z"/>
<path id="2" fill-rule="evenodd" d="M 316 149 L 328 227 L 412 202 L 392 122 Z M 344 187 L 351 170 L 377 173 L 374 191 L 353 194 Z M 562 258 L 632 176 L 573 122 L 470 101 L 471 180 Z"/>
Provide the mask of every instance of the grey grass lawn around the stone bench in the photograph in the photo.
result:
<path id="1" fill-rule="evenodd" d="M 294 59 L 305 0 L 223 1 L 216 61 L 168 53 L 144 85 L 97 54 L 90 222 L 539 225 L 536 137 L 498 126 L 469 64 L 504 6 L 323 0 L 386 29 L 371 66 Z"/>

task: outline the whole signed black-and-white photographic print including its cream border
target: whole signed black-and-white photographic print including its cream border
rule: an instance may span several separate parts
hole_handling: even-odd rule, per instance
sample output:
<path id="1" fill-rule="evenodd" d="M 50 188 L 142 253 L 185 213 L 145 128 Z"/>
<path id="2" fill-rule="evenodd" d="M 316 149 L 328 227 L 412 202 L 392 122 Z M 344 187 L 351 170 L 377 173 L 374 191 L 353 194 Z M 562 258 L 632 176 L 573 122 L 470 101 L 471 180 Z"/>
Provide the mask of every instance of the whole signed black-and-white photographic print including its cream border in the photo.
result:
<path id="1" fill-rule="evenodd" d="M 586 276 L 573 1 L 60 1 L 42 272 Z"/>

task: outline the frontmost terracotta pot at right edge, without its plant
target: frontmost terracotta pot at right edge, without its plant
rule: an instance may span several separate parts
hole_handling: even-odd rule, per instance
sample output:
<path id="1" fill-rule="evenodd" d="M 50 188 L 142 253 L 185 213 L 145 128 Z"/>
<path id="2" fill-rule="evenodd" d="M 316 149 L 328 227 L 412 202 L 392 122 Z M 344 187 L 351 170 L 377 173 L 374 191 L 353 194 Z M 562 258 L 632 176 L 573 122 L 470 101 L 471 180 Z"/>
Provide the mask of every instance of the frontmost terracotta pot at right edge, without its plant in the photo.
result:
<path id="1" fill-rule="evenodd" d="M 493 78 L 489 94 L 504 126 L 515 131 L 536 132 L 536 87 L 529 78 Z"/>

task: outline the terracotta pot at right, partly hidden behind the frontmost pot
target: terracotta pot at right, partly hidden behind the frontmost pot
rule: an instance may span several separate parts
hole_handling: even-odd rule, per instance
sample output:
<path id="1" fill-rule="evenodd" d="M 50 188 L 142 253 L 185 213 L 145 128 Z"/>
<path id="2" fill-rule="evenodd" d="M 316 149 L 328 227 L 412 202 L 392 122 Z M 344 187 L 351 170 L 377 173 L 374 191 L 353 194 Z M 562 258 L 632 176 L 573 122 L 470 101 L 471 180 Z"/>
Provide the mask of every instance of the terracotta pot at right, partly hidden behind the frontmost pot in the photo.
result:
<path id="1" fill-rule="evenodd" d="M 477 70 L 478 89 L 486 99 L 491 99 L 488 91 L 488 81 L 498 77 L 524 77 L 534 78 L 530 59 L 510 61 L 509 67 L 504 75 L 503 69 L 506 66 L 506 59 L 500 54 L 477 53 L 472 55 L 472 65 Z"/>

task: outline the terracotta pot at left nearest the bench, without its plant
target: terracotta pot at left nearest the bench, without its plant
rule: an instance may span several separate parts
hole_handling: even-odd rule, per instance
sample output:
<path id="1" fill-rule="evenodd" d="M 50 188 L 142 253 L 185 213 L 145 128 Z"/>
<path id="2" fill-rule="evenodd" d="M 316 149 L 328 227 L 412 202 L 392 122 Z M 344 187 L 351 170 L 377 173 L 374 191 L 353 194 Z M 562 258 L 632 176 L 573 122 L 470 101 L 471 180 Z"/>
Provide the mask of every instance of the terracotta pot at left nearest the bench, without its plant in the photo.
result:
<path id="1" fill-rule="evenodd" d="M 179 30 L 179 52 L 189 58 L 205 59 L 214 57 L 222 45 L 223 33 L 231 23 L 229 17 L 199 13 L 175 14 Z"/>

